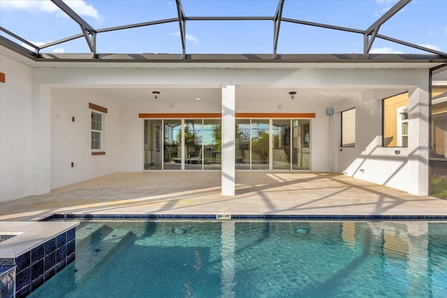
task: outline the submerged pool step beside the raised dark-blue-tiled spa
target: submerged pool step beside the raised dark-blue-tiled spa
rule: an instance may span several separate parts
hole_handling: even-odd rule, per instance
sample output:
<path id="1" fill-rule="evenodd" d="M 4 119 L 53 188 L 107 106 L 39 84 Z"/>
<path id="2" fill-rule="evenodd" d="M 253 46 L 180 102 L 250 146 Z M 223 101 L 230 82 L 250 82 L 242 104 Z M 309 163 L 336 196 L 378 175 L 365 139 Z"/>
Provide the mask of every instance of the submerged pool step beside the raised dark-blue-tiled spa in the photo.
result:
<path id="1" fill-rule="evenodd" d="M 89 276 L 124 240 L 133 235 L 129 230 L 113 230 L 103 225 L 76 244 L 75 280 L 76 283 Z M 78 258 L 82 255 L 83 258 Z"/>

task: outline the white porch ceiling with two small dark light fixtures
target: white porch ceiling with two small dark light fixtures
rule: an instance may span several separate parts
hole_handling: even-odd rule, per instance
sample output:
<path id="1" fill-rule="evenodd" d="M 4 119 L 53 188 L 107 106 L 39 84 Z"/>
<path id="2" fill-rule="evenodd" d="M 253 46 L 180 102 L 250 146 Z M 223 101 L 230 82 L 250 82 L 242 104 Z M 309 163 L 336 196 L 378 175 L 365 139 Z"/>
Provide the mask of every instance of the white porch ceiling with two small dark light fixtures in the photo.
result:
<path id="1" fill-rule="evenodd" d="M 368 91 L 371 87 L 309 87 L 295 88 L 293 86 L 237 86 L 236 87 L 236 107 L 242 105 L 274 105 L 274 109 L 281 110 L 290 105 L 325 105 L 329 106 L 346 98 L 354 98 L 362 92 Z M 166 105 L 174 107 L 179 104 L 187 105 L 221 105 L 221 87 L 191 87 L 173 85 L 165 88 L 159 88 L 151 85 L 145 87 L 113 87 L 102 86 L 86 88 L 86 90 L 115 100 L 120 105 L 140 105 L 151 103 L 152 105 Z M 154 99 L 152 91 L 160 91 L 158 99 Z M 407 89 L 405 87 L 381 87 L 375 89 L 381 92 L 383 98 L 400 94 Z M 292 100 L 288 94 L 290 91 L 296 91 L 297 94 Z M 180 98 L 180 99 L 179 99 Z M 196 98 L 200 98 L 197 100 Z M 281 107 L 279 107 L 281 105 Z M 281 112 L 281 111 L 277 112 Z"/>

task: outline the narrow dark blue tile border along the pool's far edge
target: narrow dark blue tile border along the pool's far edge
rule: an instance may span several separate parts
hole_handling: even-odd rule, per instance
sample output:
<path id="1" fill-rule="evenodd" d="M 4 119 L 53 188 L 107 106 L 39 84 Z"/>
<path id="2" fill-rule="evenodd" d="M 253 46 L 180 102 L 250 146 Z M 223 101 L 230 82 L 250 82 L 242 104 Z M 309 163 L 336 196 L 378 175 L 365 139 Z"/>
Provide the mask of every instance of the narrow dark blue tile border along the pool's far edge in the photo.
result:
<path id="1" fill-rule="evenodd" d="M 447 220 L 447 215 L 337 215 L 337 214 L 52 214 L 52 219 L 295 219 L 295 220 Z"/>

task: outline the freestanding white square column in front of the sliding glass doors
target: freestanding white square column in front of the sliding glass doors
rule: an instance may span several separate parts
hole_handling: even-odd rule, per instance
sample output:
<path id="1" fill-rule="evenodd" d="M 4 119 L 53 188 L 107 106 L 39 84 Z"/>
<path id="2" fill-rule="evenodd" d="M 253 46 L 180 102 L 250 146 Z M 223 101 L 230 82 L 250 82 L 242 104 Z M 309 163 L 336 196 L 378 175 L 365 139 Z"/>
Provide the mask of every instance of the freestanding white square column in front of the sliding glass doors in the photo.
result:
<path id="1" fill-rule="evenodd" d="M 222 195 L 235 195 L 235 86 L 222 86 Z"/>

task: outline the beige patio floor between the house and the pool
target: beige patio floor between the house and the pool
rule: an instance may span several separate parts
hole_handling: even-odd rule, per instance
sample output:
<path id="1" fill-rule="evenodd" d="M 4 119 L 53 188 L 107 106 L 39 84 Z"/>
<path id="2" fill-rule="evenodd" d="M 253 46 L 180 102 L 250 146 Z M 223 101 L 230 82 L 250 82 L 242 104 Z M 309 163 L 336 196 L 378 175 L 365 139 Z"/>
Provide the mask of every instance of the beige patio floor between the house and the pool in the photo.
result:
<path id="1" fill-rule="evenodd" d="M 447 215 L 447 200 L 327 172 L 118 172 L 1 203 L 0 221 L 52 214 Z"/>

